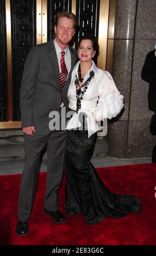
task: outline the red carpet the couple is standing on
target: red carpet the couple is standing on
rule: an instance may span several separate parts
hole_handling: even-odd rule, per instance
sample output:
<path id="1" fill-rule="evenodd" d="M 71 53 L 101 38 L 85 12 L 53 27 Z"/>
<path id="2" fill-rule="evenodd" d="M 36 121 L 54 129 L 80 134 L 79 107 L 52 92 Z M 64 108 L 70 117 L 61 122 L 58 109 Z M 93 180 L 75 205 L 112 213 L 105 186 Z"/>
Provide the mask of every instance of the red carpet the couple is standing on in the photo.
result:
<path id="1" fill-rule="evenodd" d="M 89 225 L 83 216 L 67 216 L 57 224 L 43 212 L 46 173 L 40 173 L 34 210 L 27 236 L 17 236 L 17 204 L 21 175 L 0 176 L 1 245 L 156 245 L 156 164 L 97 168 L 101 179 L 115 193 L 135 194 L 142 201 L 142 212 L 120 219 L 106 218 Z M 64 212 L 64 181 L 59 193 Z"/>

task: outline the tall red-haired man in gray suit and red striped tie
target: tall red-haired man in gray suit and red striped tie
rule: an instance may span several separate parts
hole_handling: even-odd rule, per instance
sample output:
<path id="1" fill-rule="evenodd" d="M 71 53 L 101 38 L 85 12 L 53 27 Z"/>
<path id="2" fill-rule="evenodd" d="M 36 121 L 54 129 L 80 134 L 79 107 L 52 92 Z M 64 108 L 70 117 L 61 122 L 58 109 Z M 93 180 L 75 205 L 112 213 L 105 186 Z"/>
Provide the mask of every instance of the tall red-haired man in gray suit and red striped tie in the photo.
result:
<path id="1" fill-rule="evenodd" d="M 32 47 L 25 61 L 20 90 L 25 166 L 19 193 L 17 235 L 26 235 L 29 230 L 38 166 L 46 145 L 48 168 L 44 212 L 57 223 L 66 221 L 58 210 L 57 192 L 62 180 L 67 131 L 51 131 L 49 113 L 57 111 L 60 114 L 62 105 L 68 110 L 68 87 L 77 60 L 77 52 L 68 43 L 73 38 L 75 27 L 74 14 L 58 13 L 55 39 Z"/>

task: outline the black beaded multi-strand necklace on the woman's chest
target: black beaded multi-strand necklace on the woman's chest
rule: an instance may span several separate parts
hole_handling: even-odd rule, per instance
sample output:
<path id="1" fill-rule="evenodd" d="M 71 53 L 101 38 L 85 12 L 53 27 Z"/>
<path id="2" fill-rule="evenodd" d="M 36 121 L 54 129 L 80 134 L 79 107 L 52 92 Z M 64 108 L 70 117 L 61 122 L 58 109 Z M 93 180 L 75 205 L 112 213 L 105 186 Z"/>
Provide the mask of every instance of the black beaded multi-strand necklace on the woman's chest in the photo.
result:
<path id="1" fill-rule="evenodd" d="M 86 90 L 88 88 L 88 84 L 90 83 L 90 81 L 94 77 L 94 74 L 95 74 L 95 72 L 93 70 L 90 71 L 89 78 L 80 87 L 79 81 L 82 83 L 83 82 L 83 78 L 81 76 L 81 66 L 79 64 L 79 69 L 78 69 L 78 76 L 79 77 L 77 77 L 77 75 L 76 75 L 76 78 L 75 78 L 75 86 L 76 86 L 76 113 L 78 113 L 79 109 L 81 108 L 81 100 L 82 100 L 83 95 L 85 94 L 85 92 L 86 92 Z"/>

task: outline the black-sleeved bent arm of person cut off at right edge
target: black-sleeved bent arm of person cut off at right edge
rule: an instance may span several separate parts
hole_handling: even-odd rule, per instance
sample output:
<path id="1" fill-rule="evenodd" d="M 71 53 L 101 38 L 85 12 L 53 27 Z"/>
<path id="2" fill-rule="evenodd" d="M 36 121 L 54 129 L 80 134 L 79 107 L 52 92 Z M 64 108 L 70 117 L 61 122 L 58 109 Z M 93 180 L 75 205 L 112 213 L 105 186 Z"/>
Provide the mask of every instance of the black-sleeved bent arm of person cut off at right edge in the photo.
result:
<path id="1" fill-rule="evenodd" d="M 154 53 L 153 53 L 154 54 Z M 156 86 L 156 57 L 153 56 L 152 53 L 148 53 L 145 59 L 144 66 L 141 72 L 142 80 L 147 83 L 154 84 Z"/>

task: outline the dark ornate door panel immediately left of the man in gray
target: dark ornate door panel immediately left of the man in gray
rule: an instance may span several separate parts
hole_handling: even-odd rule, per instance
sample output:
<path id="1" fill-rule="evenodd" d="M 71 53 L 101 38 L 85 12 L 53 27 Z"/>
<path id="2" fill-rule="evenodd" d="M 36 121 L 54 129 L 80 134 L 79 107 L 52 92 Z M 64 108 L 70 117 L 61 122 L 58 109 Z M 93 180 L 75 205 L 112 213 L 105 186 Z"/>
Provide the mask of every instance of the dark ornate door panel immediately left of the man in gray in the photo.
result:
<path id="1" fill-rule="evenodd" d="M 20 121 L 19 89 L 24 62 L 36 45 L 36 0 L 11 1 L 13 121 Z"/>

